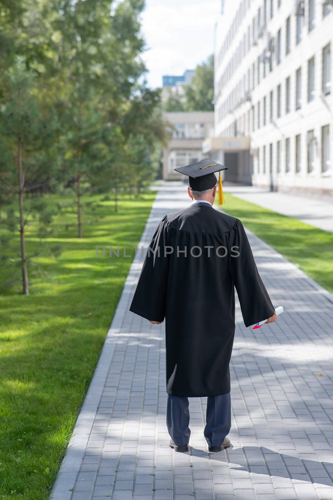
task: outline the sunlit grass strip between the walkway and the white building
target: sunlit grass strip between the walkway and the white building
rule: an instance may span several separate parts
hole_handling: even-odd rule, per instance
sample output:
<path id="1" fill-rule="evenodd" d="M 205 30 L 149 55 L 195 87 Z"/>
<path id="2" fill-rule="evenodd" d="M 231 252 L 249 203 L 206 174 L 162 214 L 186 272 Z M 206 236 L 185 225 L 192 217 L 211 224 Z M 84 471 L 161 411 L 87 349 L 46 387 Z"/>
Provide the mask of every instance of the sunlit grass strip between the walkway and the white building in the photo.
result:
<path id="1" fill-rule="evenodd" d="M 229 193 L 222 209 L 329 291 L 333 291 L 333 234 Z"/>

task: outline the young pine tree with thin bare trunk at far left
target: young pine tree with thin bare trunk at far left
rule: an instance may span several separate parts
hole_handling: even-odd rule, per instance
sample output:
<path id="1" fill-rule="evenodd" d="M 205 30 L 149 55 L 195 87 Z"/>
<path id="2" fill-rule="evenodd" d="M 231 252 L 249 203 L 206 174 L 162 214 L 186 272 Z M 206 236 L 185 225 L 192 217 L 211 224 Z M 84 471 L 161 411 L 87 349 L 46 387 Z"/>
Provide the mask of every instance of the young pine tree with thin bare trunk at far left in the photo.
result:
<path id="1" fill-rule="evenodd" d="M 26 225 L 32 212 L 39 213 L 41 223 L 49 225 L 51 212 L 45 204 L 31 202 L 25 210 L 25 195 L 36 187 L 47 183 L 52 166 L 50 156 L 55 141 L 57 121 L 52 113 L 43 114 L 35 95 L 35 75 L 27 71 L 22 58 L 8 71 L 6 97 L 0 114 L 3 139 L 0 143 L 1 187 L 6 187 L 5 195 L 18 197 L 16 217 L 13 209 L 3 222 L 20 232 L 20 256 L 23 293 L 29 294 L 29 280 L 26 251 Z M 10 247 L 10 236 L 3 238 L 3 244 Z M 12 248 L 14 251 L 15 249 Z M 4 258 L 4 255 L 2 256 Z"/>

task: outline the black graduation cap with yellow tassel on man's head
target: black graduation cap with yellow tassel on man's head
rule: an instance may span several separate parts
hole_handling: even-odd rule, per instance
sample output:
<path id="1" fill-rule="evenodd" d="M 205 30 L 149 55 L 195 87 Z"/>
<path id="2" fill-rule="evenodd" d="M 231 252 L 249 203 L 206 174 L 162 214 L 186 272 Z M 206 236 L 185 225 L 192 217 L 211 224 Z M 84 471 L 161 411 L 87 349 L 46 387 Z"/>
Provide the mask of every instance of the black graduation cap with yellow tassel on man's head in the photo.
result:
<path id="1" fill-rule="evenodd" d="M 205 191 L 216 185 L 215 172 L 218 172 L 218 204 L 223 205 L 224 196 L 222 190 L 221 170 L 227 167 L 214 162 L 210 158 L 204 158 L 189 165 L 174 168 L 177 172 L 188 175 L 188 185 L 194 191 Z"/>

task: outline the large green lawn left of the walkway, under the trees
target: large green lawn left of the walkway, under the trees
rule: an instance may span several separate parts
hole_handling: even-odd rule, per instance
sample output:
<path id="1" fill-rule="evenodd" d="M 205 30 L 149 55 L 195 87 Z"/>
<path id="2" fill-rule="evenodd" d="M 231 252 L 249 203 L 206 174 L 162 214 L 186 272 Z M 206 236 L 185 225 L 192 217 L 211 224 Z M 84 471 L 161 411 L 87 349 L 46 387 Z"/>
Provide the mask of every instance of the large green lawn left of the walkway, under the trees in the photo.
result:
<path id="1" fill-rule="evenodd" d="M 82 239 L 66 209 L 49 238 L 61 256 L 35 259 L 43 273 L 30 267 L 30 296 L 0 296 L 0 498 L 49 497 L 155 195 L 121 198 L 117 214 L 103 196 L 85 197 L 99 207 L 87 210 Z M 37 245 L 33 226 L 28 254 Z M 109 258 L 109 245 L 132 257 Z"/>

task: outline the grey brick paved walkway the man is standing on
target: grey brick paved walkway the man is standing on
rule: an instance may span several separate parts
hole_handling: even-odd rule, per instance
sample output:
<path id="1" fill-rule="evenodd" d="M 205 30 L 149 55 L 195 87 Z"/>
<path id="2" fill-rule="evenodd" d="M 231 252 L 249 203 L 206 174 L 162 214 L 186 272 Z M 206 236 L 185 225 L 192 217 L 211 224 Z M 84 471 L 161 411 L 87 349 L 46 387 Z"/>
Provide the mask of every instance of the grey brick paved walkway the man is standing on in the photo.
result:
<path id="1" fill-rule="evenodd" d="M 188 204 L 162 186 L 142 237 Z M 285 312 L 246 329 L 236 310 L 230 366 L 233 448 L 208 453 L 206 398 L 189 398 L 190 451 L 169 447 L 164 328 L 129 312 L 138 251 L 53 489 L 54 500 L 333 498 L 333 297 L 249 233 L 272 301 Z M 322 376 L 319 376 L 321 373 Z"/>

